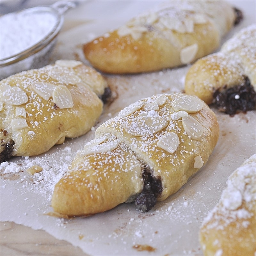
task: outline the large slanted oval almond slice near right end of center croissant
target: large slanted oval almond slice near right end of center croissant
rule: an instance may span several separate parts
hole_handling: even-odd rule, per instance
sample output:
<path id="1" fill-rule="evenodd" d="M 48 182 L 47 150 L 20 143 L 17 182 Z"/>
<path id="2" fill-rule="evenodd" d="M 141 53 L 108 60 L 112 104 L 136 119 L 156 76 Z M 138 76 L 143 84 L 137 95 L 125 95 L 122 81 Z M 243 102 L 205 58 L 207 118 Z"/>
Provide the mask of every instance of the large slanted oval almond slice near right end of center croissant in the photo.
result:
<path id="1" fill-rule="evenodd" d="M 192 116 L 182 117 L 182 125 L 184 130 L 194 140 L 200 140 L 204 134 L 203 126 Z"/>

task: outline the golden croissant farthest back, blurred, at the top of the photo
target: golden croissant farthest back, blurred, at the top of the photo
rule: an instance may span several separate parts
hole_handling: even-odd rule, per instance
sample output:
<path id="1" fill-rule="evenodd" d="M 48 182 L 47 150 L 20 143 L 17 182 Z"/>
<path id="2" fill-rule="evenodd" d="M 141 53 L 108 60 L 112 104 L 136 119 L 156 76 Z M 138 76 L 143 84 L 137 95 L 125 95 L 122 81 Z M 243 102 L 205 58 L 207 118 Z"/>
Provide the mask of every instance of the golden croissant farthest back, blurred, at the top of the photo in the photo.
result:
<path id="1" fill-rule="evenodd" d="M 225 1 L 168 1 L 83 45 L 102 72 L 140 73 L 194 62 L 212 53 L 236 23 Z"/>

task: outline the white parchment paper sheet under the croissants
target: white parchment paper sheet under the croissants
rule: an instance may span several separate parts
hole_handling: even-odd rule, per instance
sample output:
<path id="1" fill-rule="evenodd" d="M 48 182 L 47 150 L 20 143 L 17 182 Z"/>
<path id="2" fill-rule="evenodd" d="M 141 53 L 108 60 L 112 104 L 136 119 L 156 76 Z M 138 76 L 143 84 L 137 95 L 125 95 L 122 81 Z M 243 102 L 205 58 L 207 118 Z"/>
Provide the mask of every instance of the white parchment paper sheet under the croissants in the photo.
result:
<path id="1" fill-rule="evenodd" d="M 80 4 L 65 16 L 52 62 L 76 59 L 86 63 L 82 43 L 118 27 L 156 2 L 86 1 Z M 255 1 L 232 3 L 243 10 L 245 19 L 223 41 L 255 22 Z M 158 202 L 151 211 L 140 213 L 133 204 L 122 204 L 87 218 L 67 220 L 48 215 L 52 212 L 54 184 L 76 152 L 94 138 L 97 126 L 136 100 L 162 92 L 182 91 L 188 68 L 131 76 L 105 75 L 115 89 L 116 99 L 105 107 L 90 132 L 68 139 L 41 156 L 14 157 L 7 166 L 0 167 L 0 221 L 43 229 L 91 255 L 203 255 L 198 231 L 204 217 L 219 201 L 228 176 L 256 152 L 255 111 L 230 117 L 213 109 L 220 124 L 220 139 L 209 161 L 176 194 Z M 26 170 L 35 164 L 42 166 L 43 171 L 31 176 Z M 145 250 L 139 251 L 136 245 L 145 245 Z"/>

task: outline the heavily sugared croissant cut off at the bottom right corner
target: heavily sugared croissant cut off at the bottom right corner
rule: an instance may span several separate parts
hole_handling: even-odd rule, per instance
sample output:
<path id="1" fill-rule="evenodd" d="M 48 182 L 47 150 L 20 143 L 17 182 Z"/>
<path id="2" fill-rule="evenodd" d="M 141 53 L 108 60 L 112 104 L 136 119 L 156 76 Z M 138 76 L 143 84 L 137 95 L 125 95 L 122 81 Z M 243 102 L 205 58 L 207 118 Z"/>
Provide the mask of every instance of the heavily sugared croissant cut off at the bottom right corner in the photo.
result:
<path id="1" fill-rule="evenodd" d="M 256 154 L 228 178 L 220 201 L 204 219 L 199 240 L 206 256 L 256 255 Z"/>

